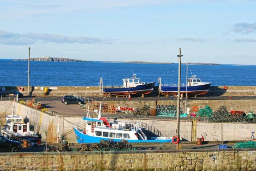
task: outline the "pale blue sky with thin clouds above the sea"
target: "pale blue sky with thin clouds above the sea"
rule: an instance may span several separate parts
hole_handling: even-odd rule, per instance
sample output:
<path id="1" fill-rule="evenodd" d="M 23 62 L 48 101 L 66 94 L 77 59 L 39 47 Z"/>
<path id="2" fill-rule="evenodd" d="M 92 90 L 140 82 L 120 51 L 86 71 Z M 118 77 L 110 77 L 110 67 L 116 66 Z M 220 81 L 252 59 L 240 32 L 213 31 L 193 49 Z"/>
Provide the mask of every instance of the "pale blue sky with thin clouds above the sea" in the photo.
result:
<path id="1" fill-rule="evenodd" d="M 256 0 L 0 0 L 0 59 L 256 65 Z"/>

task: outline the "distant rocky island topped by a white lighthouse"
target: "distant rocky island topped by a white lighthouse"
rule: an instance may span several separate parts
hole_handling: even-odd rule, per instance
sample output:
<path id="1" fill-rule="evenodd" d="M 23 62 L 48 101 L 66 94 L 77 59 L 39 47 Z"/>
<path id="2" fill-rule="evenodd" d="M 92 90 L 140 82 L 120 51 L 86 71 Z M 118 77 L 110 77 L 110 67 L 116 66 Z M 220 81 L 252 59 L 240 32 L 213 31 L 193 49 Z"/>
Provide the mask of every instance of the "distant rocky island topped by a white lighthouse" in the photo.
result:
<path id="1" fill-rule="evenodd" d="M 29 59 L 21 59 L 14 61 L 28 61 Z M 43 56 L 38 58 L 30 58 L 30 61 L 49 61 L 49 62 L 93 62 L 93 61 L 83 61 L 83 60 L 75 60 L 69 58 L 52 58 L 49 56 Z"/>

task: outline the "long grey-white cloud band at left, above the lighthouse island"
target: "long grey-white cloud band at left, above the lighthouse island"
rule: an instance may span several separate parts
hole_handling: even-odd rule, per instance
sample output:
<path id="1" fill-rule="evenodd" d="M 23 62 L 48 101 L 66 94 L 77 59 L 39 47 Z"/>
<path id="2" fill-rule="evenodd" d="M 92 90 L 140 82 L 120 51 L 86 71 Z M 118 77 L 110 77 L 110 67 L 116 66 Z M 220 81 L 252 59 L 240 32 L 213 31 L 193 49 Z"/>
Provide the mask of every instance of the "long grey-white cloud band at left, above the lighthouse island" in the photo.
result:
<path id="1" fill-rule="evenodd" d="M 115 39 L 112 38 L 97 38 L 97 37 L 72 37 L 66 35 L 54 35 L 54 34 L 38 34 L 27 33 L 18 34 L 0 30 L 0 44 L 3 45 L 31 45 L 35 42 L 53 42 L 53 43 L 81 43 L 81 44 L 112 44 Z"/>

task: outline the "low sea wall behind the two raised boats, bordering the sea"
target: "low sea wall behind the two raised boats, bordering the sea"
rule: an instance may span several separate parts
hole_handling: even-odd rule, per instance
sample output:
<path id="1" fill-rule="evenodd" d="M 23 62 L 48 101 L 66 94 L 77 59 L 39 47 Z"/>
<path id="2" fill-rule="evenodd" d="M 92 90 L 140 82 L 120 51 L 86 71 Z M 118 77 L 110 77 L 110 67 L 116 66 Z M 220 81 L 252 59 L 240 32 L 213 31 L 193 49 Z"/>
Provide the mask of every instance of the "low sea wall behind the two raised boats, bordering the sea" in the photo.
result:
<path id="1" fill-rule="evenodd" d="M 27 94 L 27 86 L 17 87 L 4 87 L 0 89 L 0 92 L 8 93 L 11 90 L 19 90 L 20 87 L 24 88 L 22 92 Z M 63 96 L 66 94 L 76 94 L 80 96 L 98 96 L 102 95 L 98 86 L 32 86 L 29 88 L 30 95 L 42 96 L 44 95 L 44 88 L 48 88 L 48 95 Z M 158 87 L 154 88 L 154 92 L 158 91 Z M 158 92 L 155 92 L 158 94 Z M 251 96 L 256 95 L 256 86 L 227 86 L 227 90 L 224 90 L 224 86 L 211 86 L 210 90 L 204 96 Z"/>

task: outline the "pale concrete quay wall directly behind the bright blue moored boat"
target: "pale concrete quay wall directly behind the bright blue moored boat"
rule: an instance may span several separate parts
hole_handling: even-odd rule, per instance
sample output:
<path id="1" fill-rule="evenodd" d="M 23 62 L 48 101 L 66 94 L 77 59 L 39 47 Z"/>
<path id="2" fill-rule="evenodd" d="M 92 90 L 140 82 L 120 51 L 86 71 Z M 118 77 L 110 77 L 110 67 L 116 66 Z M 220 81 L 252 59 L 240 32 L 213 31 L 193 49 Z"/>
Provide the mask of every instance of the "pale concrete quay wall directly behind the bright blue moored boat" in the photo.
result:
<path id="1" fill-rule="evenodd" d="M 4 107 L 4 102 L 0 102 L 0 106 Z M 14 106 L 16 110 L 19 109 L 19 103 L 14 102 Z M 3 111 L 1 110 L 0 112 Z M 40 110 L 21 104 L 19 114 L 23 118 L 28 118 L 30 124 L 34 125 L 34 130 L 38 131 L 41 117 Z M 127 121 L 127 119 L 119 120 Z M 142 118 L 138 121 L 154 126 L 163 134 L 163 136 L 173 136 L 176 134 L 176 120 L 164 120 L 161 117 L 150 117 L 149 119 Z M 65 140 L 75 143 L 76 137 L 74 132 L 72 132 L 73 126 L 82 126 L 82 128 L 84 128 L 84 121 L 82 117 L 53 116 L 43 113 L 39 130 L 39 133 L 42 135 L 42 142 L 47 140 L 48 143 L 56 143 L 59 135 L 65 135 Z M 245 140 L 246 137 L 251 137 L 251 131 L 254 130 L 256 130 L 255 123 L 210 123 L 200 121 L 197 122 L 196 126 L 197 137 L 201 137 L 201 134 L 203 134 L 206 141 Z M 183 139 L 187 141 L 192 140 L 192 122 L 190 118 L 187 121 L 181 120 L 180 134 Z"/>

